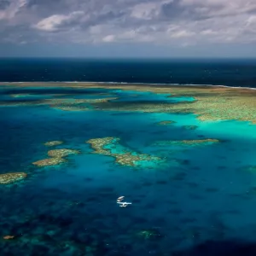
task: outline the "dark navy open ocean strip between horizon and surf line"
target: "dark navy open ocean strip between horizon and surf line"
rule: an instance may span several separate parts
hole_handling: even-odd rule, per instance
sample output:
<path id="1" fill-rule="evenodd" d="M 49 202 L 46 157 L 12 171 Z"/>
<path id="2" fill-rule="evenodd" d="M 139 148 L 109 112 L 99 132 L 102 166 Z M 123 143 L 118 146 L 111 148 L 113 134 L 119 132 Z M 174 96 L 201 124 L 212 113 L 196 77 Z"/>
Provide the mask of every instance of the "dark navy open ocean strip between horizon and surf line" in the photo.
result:
<path id="1" fill-rule="evenodd" d="M 255 59 L 0 59 L 0 81 L 256 86 Z"/>

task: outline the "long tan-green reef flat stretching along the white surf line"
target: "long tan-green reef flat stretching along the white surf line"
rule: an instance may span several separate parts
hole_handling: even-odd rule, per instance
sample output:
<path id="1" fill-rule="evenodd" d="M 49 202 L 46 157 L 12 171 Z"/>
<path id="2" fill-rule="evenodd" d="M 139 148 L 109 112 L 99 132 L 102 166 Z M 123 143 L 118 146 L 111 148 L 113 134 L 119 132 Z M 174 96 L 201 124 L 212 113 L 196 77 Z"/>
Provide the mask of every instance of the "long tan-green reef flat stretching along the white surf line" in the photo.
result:
<path id="1" fill-rule="evenodd" d="M 0 84 L 1 85 L 1 84 Z M 4 83 L 18 87 L 65 87 L 65 83 Z M 177 102 L 111 102 L 116 98 L 104 99 L 44 99 L 38 101 L 15 101 L 0 102 L 0 106 L 29 106 L 49 105 L 67 111 L 113 110 L 133 111 L 145 113 L 195 113 L 200 120 L 244 120 L 256 124 L 256 91 L 217 87 L 217 86 L 186 86 L 186 85 L 164 85 L 164 84 L 96 84 L 79 83 L 69 84 L 69 87 L 79 89 L 110 89 L 110 90 L 132 90 L 140 92 L 153 92 L 157 94 L 169 94 L 173 99 L 189 96 L 195 101 Z M 87 105 L 84 105 L 87 104 Z M 91 106 L 89 106 L 90 104 Z"/>

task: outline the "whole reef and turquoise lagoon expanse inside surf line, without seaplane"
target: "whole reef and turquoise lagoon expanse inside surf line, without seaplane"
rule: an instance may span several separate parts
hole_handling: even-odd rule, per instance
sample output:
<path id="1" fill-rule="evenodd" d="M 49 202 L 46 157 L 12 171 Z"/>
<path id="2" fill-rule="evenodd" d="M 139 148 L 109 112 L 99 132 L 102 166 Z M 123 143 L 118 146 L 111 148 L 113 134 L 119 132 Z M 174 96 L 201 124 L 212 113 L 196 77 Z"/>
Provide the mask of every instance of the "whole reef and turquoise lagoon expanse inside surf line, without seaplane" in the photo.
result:
<path id="1" fill-rule="evenodd" d="M 240 88 L 0 84 L 0 251 L 166 256 L 256 242 L 255 107 Z"/>

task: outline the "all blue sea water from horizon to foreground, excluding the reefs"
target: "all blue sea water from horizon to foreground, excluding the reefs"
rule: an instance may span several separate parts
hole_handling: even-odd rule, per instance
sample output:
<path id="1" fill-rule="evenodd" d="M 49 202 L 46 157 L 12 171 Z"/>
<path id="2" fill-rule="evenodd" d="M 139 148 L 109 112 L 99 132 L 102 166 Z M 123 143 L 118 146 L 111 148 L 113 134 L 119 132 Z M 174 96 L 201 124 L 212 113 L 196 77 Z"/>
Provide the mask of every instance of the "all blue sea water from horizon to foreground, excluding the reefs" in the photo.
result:
<path id="1" fill-rule="evenodd" d="M 3 82 L 254 87 L 255 71 L 253 60 L 0 61 Z M 255 125 L 205 122 L 194 113 L 103 111 L 90 103 L 77 111 L 38 103 L 195 101 L 170 98 L 172 90 L 159 95 L 77 90 L 73 84 L 21 85 L 0 86 L 0 174 L 27 174 L 15 183 L 0 184 L 0 255 L 255 255 Z M 114 139 L 103 152 L 90 143 L 108 137 Z M 207 139 L 218 143 L 181 143 Z M 45 145 L 53 141 L 62 143 Z M 49 150 L 61 148 L 79 154 L 63 157 L 66 161 L 55 166 L 33 164 L 49 158 Z M 124 155 L 147 158 L 129 165 L 119 161 Z M 119 196 L 131 204 L 120 207 Z"/>

